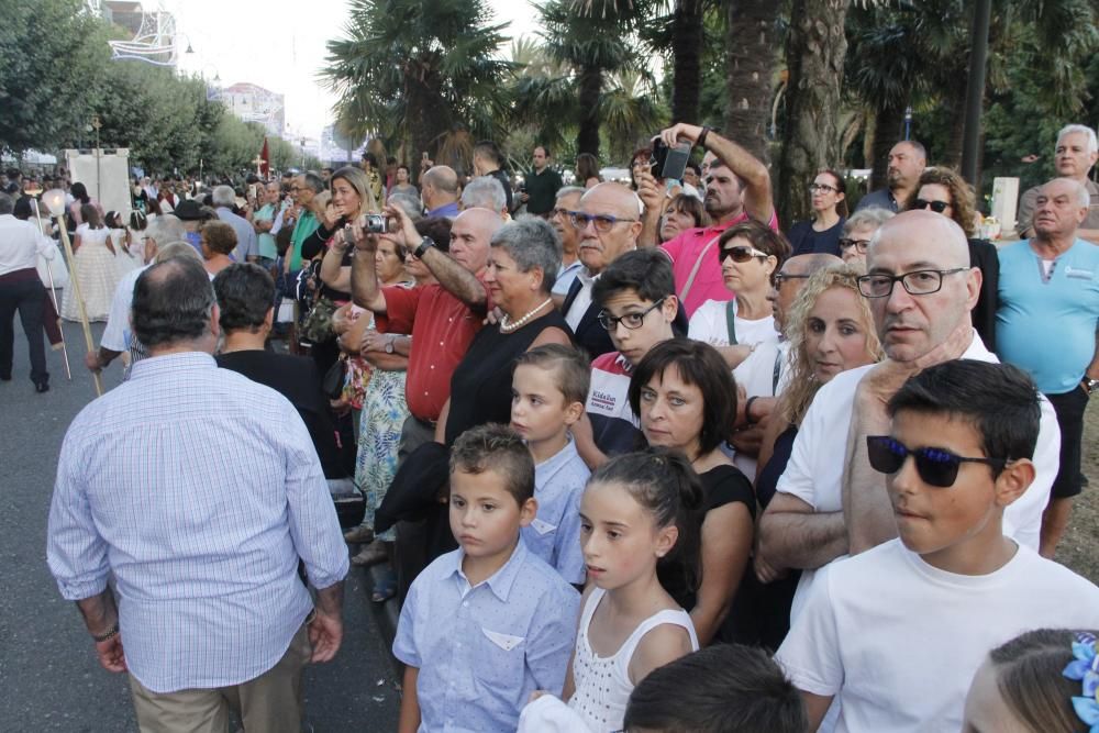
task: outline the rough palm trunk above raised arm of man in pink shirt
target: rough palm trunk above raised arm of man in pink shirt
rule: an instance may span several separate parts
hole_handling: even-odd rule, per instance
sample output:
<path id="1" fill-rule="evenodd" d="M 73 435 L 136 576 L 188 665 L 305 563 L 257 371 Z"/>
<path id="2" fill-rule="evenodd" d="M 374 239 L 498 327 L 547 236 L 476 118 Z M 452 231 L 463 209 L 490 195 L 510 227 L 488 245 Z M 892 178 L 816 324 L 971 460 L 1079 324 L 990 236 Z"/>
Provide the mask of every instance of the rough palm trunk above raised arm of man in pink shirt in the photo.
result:
<path id="1" fill-rule="evenodd" d="M 729 3 L 729 107 L 725 133 L 750 153 L 770 162 L 767 124 L 770 121 L 771 79 L 776 59 L 776 23 L 781 3 L 737 0 Z"/>

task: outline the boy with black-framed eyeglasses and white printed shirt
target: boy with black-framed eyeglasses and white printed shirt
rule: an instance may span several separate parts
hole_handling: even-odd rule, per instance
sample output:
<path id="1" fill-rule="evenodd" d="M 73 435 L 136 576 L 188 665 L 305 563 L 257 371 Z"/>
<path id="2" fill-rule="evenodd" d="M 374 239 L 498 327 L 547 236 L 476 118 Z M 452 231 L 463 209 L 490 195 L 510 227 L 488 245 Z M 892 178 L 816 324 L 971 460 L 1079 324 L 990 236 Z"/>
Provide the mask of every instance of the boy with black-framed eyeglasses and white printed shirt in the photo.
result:
<path id="1" fill-rule="evenodd" d="M 618 351 L 591 363 L 586 419 L 573 427 L 577 451 L 595 469 L 608 455 L 643 444 L 626 392 L 633 367 L 662 341 L 675 337 L 679 310 L 671 263 L 656 249 L 634 249 L 607 266 L 592 286 L 599 323 Z"/>

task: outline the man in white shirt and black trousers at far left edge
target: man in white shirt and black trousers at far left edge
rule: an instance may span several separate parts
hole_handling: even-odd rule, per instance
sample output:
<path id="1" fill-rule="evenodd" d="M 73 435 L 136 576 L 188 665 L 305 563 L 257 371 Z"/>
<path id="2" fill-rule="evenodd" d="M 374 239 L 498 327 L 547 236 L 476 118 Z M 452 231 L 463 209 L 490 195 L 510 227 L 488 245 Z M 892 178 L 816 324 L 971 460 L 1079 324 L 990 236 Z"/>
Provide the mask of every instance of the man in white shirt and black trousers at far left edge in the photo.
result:
<path id="1" fill-rule="evenodd" d="M 26 347 L 31 355 L 31 381 L 38 392 L 49 390 L 46 370 L 46 346 L 42 318 L 46 289 L 38 279 L 38 255 L 53 259 L 54 243 L 42 235 L 31 222 L 12 215 L 15 201 L 0 193 L 0 380 L 11 381 L 15 347 L 15 311 L 23 324 Z"/>

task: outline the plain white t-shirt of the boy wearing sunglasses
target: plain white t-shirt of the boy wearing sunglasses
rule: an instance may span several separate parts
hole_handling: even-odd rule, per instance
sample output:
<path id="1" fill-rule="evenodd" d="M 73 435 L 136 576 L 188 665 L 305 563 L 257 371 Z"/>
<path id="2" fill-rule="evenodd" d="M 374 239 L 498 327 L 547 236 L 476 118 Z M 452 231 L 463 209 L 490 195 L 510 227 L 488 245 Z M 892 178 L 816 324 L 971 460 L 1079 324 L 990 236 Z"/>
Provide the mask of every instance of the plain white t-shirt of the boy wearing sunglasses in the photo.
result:
<path id="1" fill-rule="evenodd" d="M 963 576 L 892 540 L 819 574 L 775 658 L 799 689 L 839 695 L 841 733 L 954 733 L 989 651 L 1044 628 L 1099 628 L 1099 588 L 1022 546 Z"/>

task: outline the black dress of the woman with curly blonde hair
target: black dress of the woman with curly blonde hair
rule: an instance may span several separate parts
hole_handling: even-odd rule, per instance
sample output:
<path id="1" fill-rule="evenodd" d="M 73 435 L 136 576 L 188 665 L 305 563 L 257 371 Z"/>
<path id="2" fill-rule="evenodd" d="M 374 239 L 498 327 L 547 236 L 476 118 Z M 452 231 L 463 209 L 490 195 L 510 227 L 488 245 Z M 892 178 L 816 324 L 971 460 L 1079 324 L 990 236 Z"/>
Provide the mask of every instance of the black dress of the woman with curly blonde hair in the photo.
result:
<path id="1" fill-rule="evenodd" d="M 756 499 L 762 509 L 766 509 L 775 497 L 778 478 L 790 462 L 797 435 L 798 426 L 790 425 L 776 437 L 770 459 L 756 476 Z M 723 641 L 762 645 L 773 652 L 778 649 L 790 631 L 790 607 L 800 578 L 801 570 L 790 570 L 781 580 L 762 584 L 754 570 L 746 570 L 722 629 Z"/>

